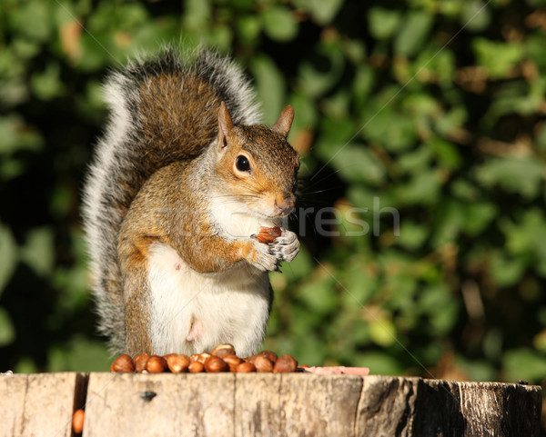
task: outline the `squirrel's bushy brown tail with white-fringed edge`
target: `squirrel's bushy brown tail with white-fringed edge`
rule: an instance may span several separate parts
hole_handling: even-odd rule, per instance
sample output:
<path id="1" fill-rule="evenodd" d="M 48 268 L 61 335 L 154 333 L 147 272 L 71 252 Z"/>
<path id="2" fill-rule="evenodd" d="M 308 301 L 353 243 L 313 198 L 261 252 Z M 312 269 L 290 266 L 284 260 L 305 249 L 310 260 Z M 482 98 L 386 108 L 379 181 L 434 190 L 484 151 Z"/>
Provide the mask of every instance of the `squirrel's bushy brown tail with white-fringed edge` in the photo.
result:
<path id="1" fill-rule="evenodd" d="M 159 168 L 214 141 L 222 100 L 235 124 L 258 124 L 260 114 L 238 65 L 204 49 L 180 57 L 167 48 L 129 64 L 109 74 L 105 94 L 110 117 L 86 179 L 83 217 L 99 330 L 118 353 L 125 348 L 125 303 L 117 237 L 138 190 Z"/>

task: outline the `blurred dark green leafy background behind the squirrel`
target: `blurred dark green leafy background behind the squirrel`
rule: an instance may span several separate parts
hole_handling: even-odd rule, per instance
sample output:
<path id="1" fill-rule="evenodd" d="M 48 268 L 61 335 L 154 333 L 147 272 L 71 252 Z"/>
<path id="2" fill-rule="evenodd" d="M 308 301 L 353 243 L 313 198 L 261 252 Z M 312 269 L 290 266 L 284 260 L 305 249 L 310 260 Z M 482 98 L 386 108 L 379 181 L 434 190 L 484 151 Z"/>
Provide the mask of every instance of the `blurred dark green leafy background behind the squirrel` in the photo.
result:
<path id="1" fill-rule="evenodd" d="M 264 347 L 545 386 L 545 32 L 541 0 L 3 0 L 0 370 L 109 368 L 80 216 L 101 81 L 205 42 L 268 124 L 296 112 L 303 247 L 271 275 Z"/>

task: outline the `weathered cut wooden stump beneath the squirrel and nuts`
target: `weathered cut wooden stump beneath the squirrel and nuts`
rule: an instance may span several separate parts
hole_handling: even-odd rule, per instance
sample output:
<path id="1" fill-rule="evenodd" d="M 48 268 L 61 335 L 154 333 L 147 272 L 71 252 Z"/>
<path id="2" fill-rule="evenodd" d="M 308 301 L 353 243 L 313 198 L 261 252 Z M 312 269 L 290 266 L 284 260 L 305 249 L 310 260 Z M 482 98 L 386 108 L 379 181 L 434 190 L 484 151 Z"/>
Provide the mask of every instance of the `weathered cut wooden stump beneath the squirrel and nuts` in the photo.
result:
<path id="1" fill-rule="evenodd" d="M 0 376 L 0 437 L 539 436 L 541 388 L 380 375 Z"/>

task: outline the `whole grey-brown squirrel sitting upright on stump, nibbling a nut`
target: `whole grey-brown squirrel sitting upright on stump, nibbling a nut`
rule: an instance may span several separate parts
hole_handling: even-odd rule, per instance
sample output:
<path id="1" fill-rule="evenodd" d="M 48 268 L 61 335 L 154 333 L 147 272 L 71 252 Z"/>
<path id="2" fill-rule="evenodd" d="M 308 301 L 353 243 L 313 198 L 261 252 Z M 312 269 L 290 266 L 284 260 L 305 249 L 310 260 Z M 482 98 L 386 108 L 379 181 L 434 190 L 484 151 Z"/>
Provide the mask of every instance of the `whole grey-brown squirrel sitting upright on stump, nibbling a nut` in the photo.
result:
<path id="1" fill-rule="evenodd" d="M 292 261 L 299 155 L 294 111 L 260 124 L 229 57 L 172 47 L 108 74 L 110 115 L 85 186 L 83 221 L 100 333 L 113 353 L 201 353 L 262 343 L 268 272 Z M 260 226 L 279 226 L 259 243 Z"/>

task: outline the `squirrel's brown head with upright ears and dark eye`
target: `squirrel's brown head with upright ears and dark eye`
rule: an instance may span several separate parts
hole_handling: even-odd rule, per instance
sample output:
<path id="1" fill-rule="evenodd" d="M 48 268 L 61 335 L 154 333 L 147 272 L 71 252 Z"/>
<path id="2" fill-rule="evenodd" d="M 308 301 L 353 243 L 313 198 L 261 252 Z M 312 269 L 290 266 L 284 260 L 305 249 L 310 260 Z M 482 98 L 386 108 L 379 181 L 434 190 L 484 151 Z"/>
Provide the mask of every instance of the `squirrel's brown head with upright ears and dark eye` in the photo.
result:
<path id="1" fill-rule="evenodd" d="M 271 219 L 290 214 L 296 201 L 299 155 L 286 138 L 293 118 L 292 108 L 287 108 L 271 128 L 231 125 L 222 132 L 222 114 L 218 116 L 217 174 L 222 191 L 230 202 Z"/>

